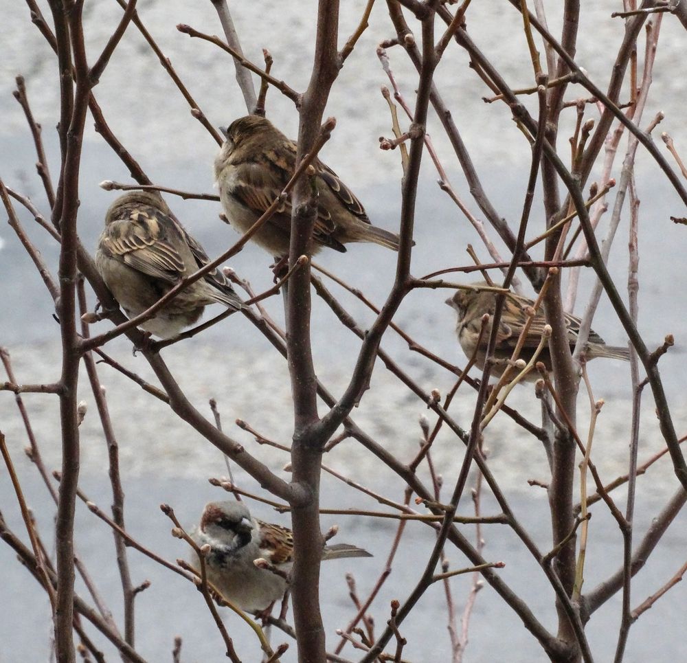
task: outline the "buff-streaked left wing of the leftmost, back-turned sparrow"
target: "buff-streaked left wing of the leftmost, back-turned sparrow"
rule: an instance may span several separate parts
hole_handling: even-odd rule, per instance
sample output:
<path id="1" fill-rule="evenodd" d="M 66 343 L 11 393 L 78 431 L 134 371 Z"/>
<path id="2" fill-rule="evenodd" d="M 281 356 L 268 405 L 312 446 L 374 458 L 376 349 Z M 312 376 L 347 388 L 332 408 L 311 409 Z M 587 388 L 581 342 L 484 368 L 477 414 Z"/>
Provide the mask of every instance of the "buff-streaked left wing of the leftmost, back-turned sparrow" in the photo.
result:
<path id="1" fill-rule="evenodd" d="M 187 269 L 179 247 L 183 236 L 172 219 L 156 207 L 122 205 L 113 213 L 101 239 L 102 249 L 124 264 L 168 282 Z"/>

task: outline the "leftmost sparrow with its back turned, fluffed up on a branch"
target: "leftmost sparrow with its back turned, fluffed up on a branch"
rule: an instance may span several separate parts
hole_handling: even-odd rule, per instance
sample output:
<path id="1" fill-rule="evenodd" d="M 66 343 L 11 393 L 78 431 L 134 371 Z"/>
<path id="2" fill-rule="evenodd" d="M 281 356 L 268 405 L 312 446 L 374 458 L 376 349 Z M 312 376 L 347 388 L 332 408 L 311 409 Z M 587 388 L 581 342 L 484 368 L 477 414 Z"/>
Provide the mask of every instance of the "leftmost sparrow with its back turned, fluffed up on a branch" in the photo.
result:
<path id="1" fill-rule="evenodd" d="M 174 219 L 159 194 L 131 191 L 112 203 L 95 251 L 95 266 L 128 317 L 153 306 L 182 278 L 210 262 L 203 247 Z M 171 338 L 198 320 L 207 304 L 243 306 L 214 269 L 192 283 L 141 327 Z"/>

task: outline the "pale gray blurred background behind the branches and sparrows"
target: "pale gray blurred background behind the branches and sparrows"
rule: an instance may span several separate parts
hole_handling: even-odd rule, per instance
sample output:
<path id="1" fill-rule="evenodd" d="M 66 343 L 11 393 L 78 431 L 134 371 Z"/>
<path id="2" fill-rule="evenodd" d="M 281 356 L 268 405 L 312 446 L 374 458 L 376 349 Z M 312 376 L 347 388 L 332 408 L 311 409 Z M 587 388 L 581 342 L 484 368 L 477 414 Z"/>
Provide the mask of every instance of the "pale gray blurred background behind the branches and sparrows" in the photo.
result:
<path id="1" fill-rule="evenodd" d="M 342 3 L 341 44 L 354 30 L 364 2 Z M 560 31 L 558 3 L 547 6 L 549 25 Z M 587 3 L 585 3 L 586 5 Z M 43 138 L 49 165 L 55 174 L 58 168 L 58 142 L 54 126 L 58 120 L 58 72 L 56 62 L 43 37 L 30 23 L 23 3 L 3 2 L 5 21 L 0 25 L 2 57 L 0 58 L 0 175 L 12 188 L 29 194 L 43 213 L 47 213 L 41 183 L 35 175 L 36 161 L 32 140 L 23 114 L 12 98 L 14 76 L 23 74 L 34 115 L 43 124 Z M 41 3 L 47 16 L 49 11 Z M 612 58 L 622 40 L 620 19 L 611 19 L 619 3 L 602 1 L 583 8 L 583 22 L 578 42 L 577 61 L 604 88 Z M 234 80 L 231 59 L 213 45 L 180 34 L 177 23 L 189 23 L 196 29 L 221 33 L 212 4 L 184 3 L 179 0 L 140 0 L 138 11 L 164 53 L 199 102 L 210 122 L 224 125 L 245 114 L 243 98 Z M 257 63 L 262 62 L 262 47 L 268 47 L 274 57 L 273 74 L 291 87 L 303 90 L 308 82 L 312 60 L 312 44 L 316 3 L 276 1 L 232 3 L 236 27 L 245 52 Z M 86 3 L 85 25 L 87 52 L 93 60 L 100 52 L 121 15 L 115 2 Z M 278 16 L 278 20 L 272 20 Z M 512 87 L 531 85 L 532 74 L 526 43 L 519 29 L 519 14 L 506 2 L 476 3 L 469 10 L 468 27 L 477 44 L 491 58 Z M 327 114 L 337 117 L 337 129 L 322 152 L 322 158 L 332 166 L 365 204 L 376 225 L 388 229 L 398 227 L 400 210 L 401 166 L 398 150 L 379 150 L 381 135 L 390 136 L 387 104 L 379 93 L 387 78 L 375 54 L 376 45 L 392 37 L 392 28 L 383 3 L 377 3 L 370 19 L 370 28 L 363 34 L 352 56 L 335 83 Z M 667 15 L 657 53 L 655 80 L 642 126 L 661 109 L 666 119 L 660 129 L 675 138 L 677 148 L 687 144 L 684 109 L 684 80 L 674 76 L 678 58 L 684 54 L 683 28 Z M 541 46 L 540 46 L 541 49 Z M 642 47 L 640 47 L 640 60 Z M 389 50 L 392 69 L 407 102 L 414 103 L 417 77 L 401 49 Z M 450 47 L 437 71 L 437 83 L 447 100 L 456 124 L 471 150 L 484 188 L 499 214 L 513 225 L 521 212 L 523 193 L 528 176 L 529 148 L 510 120 L 510 114 L 499 104 L 487 105 L 482 95 L 488 91 L 467 67 L 467 59 L 458 48 Z M 115 135 L 139 160 L 148 176 L 156 183 L 212 192 L 212 159 L 217 146 L 205 129 L 190 117 L 188 105 L 157 62 L 135 26 L 131 25 L 111 63 L 95 88 L 95 97 L 102 106 L 107 122 Z M 571 88 L 567 98 L 587 96 L 581 88 Z M 528 100 L 530 107 L 533 100 Z M 267 98 L 268 116 L 289 135 L 295 135 L 297 113 L 293 104 L 278 91 L 271 90 Z M 587 109 L 589 117 L 598 117 Z M 574 111 L 566 111 L 561 128 L 561 153 L 572 131 Z M 402 126 L 405 118 L 402 117 Z M 440 124 L 431 114 L 429 133 L 433 137 L 442 164 L 453 188 L 468 203 L 473 213 L 478 210 L 469 198 L 464 177 L 451 148 L 442 136 Z M 624 150 L 627 139 L 621 142 Z M 637 179 L 640 206 L 640 330 L 650 346 L 662 342 L 666 333 L 673 333 L 676 345 L 662 360 L 662 374 L 671 398 L 678 434 L 687 428 L 687 408 L 684 401 L 684 317 L 686 313 L 684 278 L 684 235 L 682 226 L 674 225 L 669 216 L 684 216 L 684 205 L 661 176 L 657 166 L 643 150 L 638 152 Z M 616 164 L 619 175 L 622 155 Z M 480 258 L 489 261 L 486 250 L 464 216 L 436 186 L 436 172 L 431 161 L 424 159 L 420 180 L 420 195 L 416 223 L 416 248 L 412 271 L 416 276 L 462 265 L 469 262 L 465 253 L 468 243 L 475 245 Z M 123 164 L 95 134 L 91 120 L 81 170 L 81 209 L 79 232 L 85 245 L 93 247 L 102 227 L 102 218 L 115 192 L 104 192 L 98 183 L 104 179 L 130 181 Z M 212 202 L 181 201 L 167 196 L 174 212 L 194 236 L 201 240 L 210 256 L 225 250 L 237 238 L 236 233 L 218 220 L 219 205 Z M 480 216 L 480 214 L 477 214 Z M 32 239 L 56 273 L 57 249 L 52 240 L 36 227 L 30 217 L 21 214 Z M 532 236 L 541 232 L 543 214 L 535 202 L 530 228 Z M 602 222 L 604 227 L 604 222 Z M 495 234 L 492 234 L 495 238 Z M 496 242 L 499 249 L 503 249 Z M 505 251 L 503 251 L 505 255 Z M 383 302 L 394 275 L 395 256 L 376 246 L 352 246 L 347 254 L 324 251 L 317 262 L 365 292 L 377 304 Z M 260 291 L 271 283 L 267 269 L 271 258 L 249 245 L 232 259 L 232 267 L 248 278 Z M 52 318 L 52 301 L 35 273 L 12 230 L 0 226 L 0 266 L 5 278 L 0 280 L 0 344 L 6 346 L 14 361 L 17 379 L 21 382 L 54 381 L 58 376 L 58 328 Z M 611 271 L 618 278 L 620 290 L 627 281 L 627 214 L 618 231 L 611 252 Z M 583 311 L 592 280 L 583 275 L 581 295 L 576 312 Z M 331 289 L 356 317 L 367 326 L 372 316 L 357 300 L 338 286 Z M 444 305 L 447 291 L 416 291 L 403 303 L 396 322 L 418 342 L 446 357 L 462 363 L 464 357 L 455 342 L 453 312 Z M 91 298 L 92 301 L 92 298 Z M 274 297 L 266 304 L 275 319 L 281 320 L 282 304 Z M 102 323 L 104 330 L 109 323 Z M 602 300 L 594 328 L 611 344 L 624 344 L 627 339 L 613 316 L 607 300 Z M 340 394 L 348 382 L 359 341 L 337 320 L 326 306 L 314 297 L 313 343 L 318 376 L 330 390 Z M 453 383 L 451 374 L 407 351 L 405 343 L 390 332 L 383 347 L 425 389 L 438 387 L 446 393 Z M 106 348 L 131 370 L 153 380 L 142 357 L 133 357 L 127 342 L 115 341 Z M 291 434 L 291 397 L 286 365 L 280 356 L 253 328 L 239 316 L 233 316 L 207 333 L 184 341 L 164 352 L 179 382 L 192 402 L 210 415 L 207 401 L 216 398 L 223 416 L 225 430 L 246 445 L 251 453 L 267 462 L 284 477 L 282 467 L 286 456 L 258 447 L 251 436 L 234 424 L 243 418 L 260 433 L 283 443 Z M 594 460 L 605 480 L 622 474 L 627 467 L 631 388 L 629 366 L 614 361 L 596 361 L 589 366 L 595 398 L 606 403 L 597 424 Z M 169 535 L 169 521 L 159 512 L 161 502 L 174 506 L 179 517 L 188 524 L 199 516 L 203 504 L 224 495 L 207 484 L 207 477 L 225 475 L 220 453 L 195 431 L 172 416 L 164 404 L 106 366 L 100 368 L 102 383 L 115 422 L 120 442 L 124 488 L 127 494 L 128 529 L 142 543 L 173 560 L 185 556 L 183 544 Z M 3 378 L 5 379 L 5 378 Z M 82 489 L 102 508 L 107 508 L 111 495 L 106 467 L 106 448 L 98 424 L 92 396 L 85 380 L 81 382 L 80 398 L 90 406 L 82 425 Z M 473 392 L 461 391 L 454 403 L 455 416 L 469 426 L 473 407 Z M 58 408 L 55 398 L 27 394 L 24 401 L 36 429 L 41 451 L 50 469 L 59 466 Z M 520 387 L 510 402 L 533 421 L 539 417 L 537 401 L 530 387 Z M 649 392 L 644 394 L 640 462 L 662 449 L 662 438 L 653 415 Z M 587 401 L 581 397 L 580 428 L 585 431 Z M 323 408 L 324 411 L 324 408 Z M 365 394 L 354 418 L 376 440 L 392 450 L 398 458 L 410 460 L 416 452 L 419 427 L 417 419 L 426 412 L 412 394 L 378 365 L 372 377 L 372 389 Z M 0 429 L 20 473 L 25 494 L 36 513 L 43 532 L 52 530 L 54 506 L 47 491 L 39 484 L 32 464 L 25 458 L 25 431 L 10 393 L 0 394 Z M 546 480 L 548 470 L 541 447 L 536 440 L 523 435 L 504 416 L 497 417 L 486 431 L 493 471 L 508 496 L 515 512 L 533 532 L 541 550 L 550 548 L 548 504 L 541 488 L 530 488 L 527 480 Z M 440 435 L 433 449 L 434 459 L 448 486 L 455 480 L 462 446 L 447 434 Z M 401 500 L 403 485 L 387 469 L 355 442 L 339 445 L 325 462 L 341 473 L 366 484 L 392 499 Z M 259 487 L 249 477 L 237 472 L 238 482 L 252 491 Z M 423 475 L 423 478 L 426 478 Z M 675 491 L 677 482 L 666 458 L 655 465 L 638 483 L 638 537 L 646 530 L 653 515 L 667 497 Z M 624 508 L 624 493 L 618 491 L 616 501 Z M 353 491 L 328 475 L 323 479 L 323 502 L 326 506 L 356 506 L 376 508 L 371 499 Z M 269 508 L 255 505 L 254 513 L 263 519 L 275 519 L 288 524 L 285 516 Z M 484 497 L 484 512 L 496 513 L 497 506 L 488 495 Z M 14 530 L 23 534 L 16 498 L 5 471 L 0 473 L 0 509 Z M 471 504 L 461 505 L 469 513 Z M 323 517 L 324 526 L 338 523 L 339 539 L 368 548 L 375 557 L 349 567 L 350 562 L 335 561 L 323 567 L 322 599 L 328 629 L 329 649 L 336 642 L 335 629 L 346 626 L 352 615 L 348 590 L 343 579 L 352 570 L 359 592 L 365 596 L 383 569 L 392 539 L 391 521 L 371 521 L 361 517 Z M 649 564 L 637 576 L 633 585 L 633 605 L 643 600 L 665 583 L 684 561 L 687 544 L 685 518 L 681 515 L 651 557 Z M 491 529 L 495 528 L 495 529 Z M 473 533 L 469 532 L 473 537 Z M 535 614 L 554 628 L 553 593 L 534 561 L 523 551 L 519 541 L 499 526 L 484 529 L 485 556 L 503 559 L 504 579 L 530 603 Z M 80 506 L 77 523 L 77 548 L 93 570 L 109 605 L 120 616 L 121 599 L 115 565 L 111 532 L 85 508 Z M 378 631 L 385 624 L 391 598 L 403 600 L 417 581 L 433 542 L 429 528 L 409 524 L 394 565 L 394 573 L 374 604 L 373 614 Z M 51 541 L 47 541 L 52 545 Z M 448 550 L 452 568 L 466 565 L 460 555 Z M 594 587 L 609 572 L 616 570 L 622 559 L 620 534 L 607 510 L 597 506 L 590 524 L 585 589 Z M 223 660 L 221 638 L 203 601 L 193 587 L 174 574 L 149 563 L 137 552 L 130 551 L 130 563 L 135 583 L 150 578 L 152 586 L 137 599 L 137 649 L 148 660 L 171 660 L 172 638 L 179 634 L 184 644 L 182 660 Z M 43 661 L 49 658 L 50 625 L 47 599 L 33 579 L 14 561 L 7 546 L 0 546 L 0 563 L 5 570 L 0 583 L 0 601 L 12 605 L 0 620 L 0 660 L 11 662 Z M 467 596 L 469 578 L 453 581 L 455 605 L 462 610 Z M 85 594 L 82 587 L 80 593 Z M 627 648 L 627 661 L 675 660 L 682 652 L 684 623 L 684 587 L 678 585 L 635 624 Z M 413 661 L 449 660 L 449 638 L 445 629 L 443 590 L 436 585 L 425 595 L 413 618 L 401 629 L 408 638 L 405 658 Z M 678 618 L 675 618 L 675 615 Z M 615 648 L 620 620 L 620 596 L 610 600 L 587 627 L 592 651 L 598 660 L 609 660 Z M 244 660 L 257 660 L 254 638 L 243 623 L 230 614 L 225 621 L 238 651 Z M 428 629 L 433 637 L 428 638 Z M 113 651 L 99 636 L 98 645 L 108 654 Z M 470 628 L 470 645 L 466 652 L 469 662 L 528 662 L 543 660 L 537 642 L 523 629 L 508 607 L 488 586 L 477 598 Z M 275 636 L 275 642 L 281 642 Z M 344 655 L 357 658 L 350 648 Z M 295 647 L 284 660 L 295 660 Z"/>

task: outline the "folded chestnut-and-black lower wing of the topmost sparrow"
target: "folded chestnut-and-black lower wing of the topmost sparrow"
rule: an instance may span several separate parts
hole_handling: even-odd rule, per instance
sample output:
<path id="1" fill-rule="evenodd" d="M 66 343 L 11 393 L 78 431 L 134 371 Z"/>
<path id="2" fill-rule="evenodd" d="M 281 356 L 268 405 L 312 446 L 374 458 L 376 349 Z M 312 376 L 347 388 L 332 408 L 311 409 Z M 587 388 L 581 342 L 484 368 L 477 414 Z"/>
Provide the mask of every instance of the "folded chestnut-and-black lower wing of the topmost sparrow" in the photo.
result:
<path id="1" fill-rule="evenodd" d="M 283 148 L 283 149 L 282 149 Z M 267 162 L 256 163 L 243 161 L 236 164 L 232 178 L 232 195 L 236 200 L 253 210 L 258 216 L 277 199 L 291 179 L 295 170 L 295 144 L 284 142 L 280 150 L 267 150 L 264 157 Z M 285 232 L 291 228 L 291 196 L 282 201 L 275 214 L 267 223 L 281 227 Z M 317 218 L 313 237 L 320 244 L 345 251 L 343 245 L 332 237 L 337 229 L 336 223 L 328 210 L 322 205 L 317 207 Z"/>

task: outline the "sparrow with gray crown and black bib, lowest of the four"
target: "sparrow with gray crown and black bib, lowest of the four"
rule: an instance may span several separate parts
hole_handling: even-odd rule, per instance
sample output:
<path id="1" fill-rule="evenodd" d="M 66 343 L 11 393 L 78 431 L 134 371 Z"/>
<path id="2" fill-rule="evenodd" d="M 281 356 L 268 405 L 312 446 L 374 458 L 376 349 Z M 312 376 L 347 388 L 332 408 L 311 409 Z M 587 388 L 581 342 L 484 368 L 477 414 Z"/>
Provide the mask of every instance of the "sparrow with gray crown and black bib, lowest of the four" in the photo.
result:
<path id="1" fill-rule="evenodd" d="M 240 609 L 264 611 L 284 596 L 286 579 L 257 568 L 253 561 L 262 557 L 288 573 L 293 564 L 291 530 L 251 517 L 243 502 L 210 502 L 190 536 L 199 546 L 210 545 L 205 557 L 207 579 Z M 322 559 L 341 557 L 372 555 L 348 543 L 324 546 Z M 192 564 L 198 568 L 195 554 Z"/>

